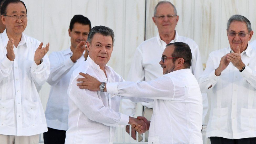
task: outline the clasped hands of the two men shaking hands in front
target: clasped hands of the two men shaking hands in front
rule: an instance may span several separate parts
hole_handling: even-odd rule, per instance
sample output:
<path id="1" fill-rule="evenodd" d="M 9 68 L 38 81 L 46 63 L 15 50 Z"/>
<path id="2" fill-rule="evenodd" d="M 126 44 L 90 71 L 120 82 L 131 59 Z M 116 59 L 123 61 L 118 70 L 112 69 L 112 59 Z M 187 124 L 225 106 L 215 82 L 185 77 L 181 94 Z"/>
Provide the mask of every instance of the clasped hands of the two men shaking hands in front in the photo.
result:
<path id="1" fill-rule="evenodd" d="M 145 117 L 138 116 L 136 119 L 129 116 L 129 118 L 130 119 L 128 124 L 132 126 L 132 134 L 135 133 L 135 131 L 137 131 L 139 134 L 143 134 L 144 132 L 149 130 L 150 121 L 148 121 Z M 129 125 L 127 126 L 129 127 Z M 127 130 L 127 126 L 126 126 L 126 132 L 129 133 L 129 129 Z M 135 136 L 132 136 L 132 137 L 135 138 Z"/>

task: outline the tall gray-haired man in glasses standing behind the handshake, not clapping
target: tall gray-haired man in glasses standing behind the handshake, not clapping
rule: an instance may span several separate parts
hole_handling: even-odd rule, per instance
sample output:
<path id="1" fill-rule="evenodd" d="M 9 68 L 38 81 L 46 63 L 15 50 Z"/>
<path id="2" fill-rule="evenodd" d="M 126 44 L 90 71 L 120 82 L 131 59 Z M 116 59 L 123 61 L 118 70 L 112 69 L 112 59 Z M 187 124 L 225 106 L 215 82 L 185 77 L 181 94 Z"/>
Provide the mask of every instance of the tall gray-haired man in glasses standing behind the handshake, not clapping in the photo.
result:
<path id="1" fill-rule="evenodd" d="M 156 37 L 148 39 L 140 44 L 134 54 L 131 68 L 127 77 L 127 81 L 151 81 L 153 79 L 163 76 L 162 68 L 159 66 L 159 57 L 167 44 L 173 42 L 185 42 L 189 45 L 192 53 L 191 73 L 199 78 L 203 72 L 199 47 L 196 42 L 190 38 L 179 36 L 175 27 L 179 20 L 177 10 L 175 6 L 169 1 L 160 1 L 154 9 L 154 15 L 152 17 L 153 22 L 157 26 L 158 34 Z M 208 105 L 206 95 L 203 95 L 204 101 L 206 98 L 206 105 Z M 150 120 L 153 113 L 153 103 L 142 103 L 144 105 L 143 116 Z M 132 103 L 128 99 L 122 100 L 122 111 L 133 116 L 135 114 L 136 104 Z M 204 107 L 206 113 L 207 107 Z M 203 115 L 205 115 L 203 113 Z M 127 126 L 126 131 L 129 126 Z M 133 131 L 134 132 L 134 131 Z M 132 133 L 135 138 L 135 133 Z M 147 139 L 146 132 L 146 139 Z"/>

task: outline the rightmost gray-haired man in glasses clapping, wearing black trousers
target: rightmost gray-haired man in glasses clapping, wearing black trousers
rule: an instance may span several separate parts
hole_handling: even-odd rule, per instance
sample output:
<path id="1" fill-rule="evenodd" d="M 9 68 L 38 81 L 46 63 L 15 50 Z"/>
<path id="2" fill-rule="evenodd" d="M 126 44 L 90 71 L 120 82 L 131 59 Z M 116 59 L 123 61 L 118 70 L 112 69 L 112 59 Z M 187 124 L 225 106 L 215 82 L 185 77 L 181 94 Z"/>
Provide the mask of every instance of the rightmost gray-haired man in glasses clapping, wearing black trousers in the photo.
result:
<path id="1" fill-rule="evenodd" d="M 256 143 L 256 50 L 248 44 L 252 35 L 246 17 L 230 17 L 230 46 L 210 53 L 200 77 L 200 89 L 210 98 L 206 136 L 211 144 Z"/>

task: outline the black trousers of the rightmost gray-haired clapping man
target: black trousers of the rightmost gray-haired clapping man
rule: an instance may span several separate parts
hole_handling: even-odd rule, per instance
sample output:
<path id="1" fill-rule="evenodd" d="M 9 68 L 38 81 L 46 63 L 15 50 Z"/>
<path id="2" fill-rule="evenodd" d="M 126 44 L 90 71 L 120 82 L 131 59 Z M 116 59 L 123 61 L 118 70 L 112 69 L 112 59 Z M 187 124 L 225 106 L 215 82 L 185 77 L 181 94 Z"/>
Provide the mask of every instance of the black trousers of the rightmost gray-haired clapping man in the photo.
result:
<path id="1" fill-rule="evenodd" d="M 228 139 L 223 137 L 210 137 L 211 144 L 255 144 L 256 137 Z"/>

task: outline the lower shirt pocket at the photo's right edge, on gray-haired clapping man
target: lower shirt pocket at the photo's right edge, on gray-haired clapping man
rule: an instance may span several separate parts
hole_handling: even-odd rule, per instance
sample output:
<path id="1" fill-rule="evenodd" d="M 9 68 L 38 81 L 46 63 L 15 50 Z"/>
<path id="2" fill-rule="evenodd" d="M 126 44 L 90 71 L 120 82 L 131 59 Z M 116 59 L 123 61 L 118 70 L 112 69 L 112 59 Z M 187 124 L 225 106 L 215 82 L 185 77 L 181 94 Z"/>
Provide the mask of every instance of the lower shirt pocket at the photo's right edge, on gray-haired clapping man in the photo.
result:
<path id="1" fill-rule="evenodd" d="M 242 130 L 256 130 L 256 109 L 241 109 L 241 128 Z"/>

